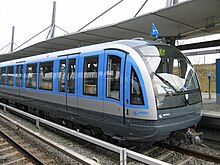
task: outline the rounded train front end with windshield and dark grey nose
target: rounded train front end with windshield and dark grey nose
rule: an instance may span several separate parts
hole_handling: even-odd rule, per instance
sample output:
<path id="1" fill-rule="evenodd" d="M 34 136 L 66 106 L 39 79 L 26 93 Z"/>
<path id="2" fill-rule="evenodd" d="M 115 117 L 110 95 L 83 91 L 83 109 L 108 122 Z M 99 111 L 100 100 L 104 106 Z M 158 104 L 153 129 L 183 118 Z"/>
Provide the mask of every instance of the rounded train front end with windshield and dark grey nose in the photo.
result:
<path id="1" fill-rule="evenodd" d="M 146 141 L 164 140 L 171 132 L 197 124 L 201 119 L 202 97 L 196 72 L 188 58 L 176 48 L 160 43 L 137 46 L 135 50 L 146 65 L 153 87 L 151 94 L 149 85 L 145 84 L 149 111 L 154 111 L 150 105 L 155 104 L 157 114 L 156 119 L 152 115 L 152 119 L 142 120 L 147 131 L 143 130 L 140 136 Z M 138 119 L 135 122 L 141 125 Z M 145 136 L 146 132 L 152 134 Z"/>

